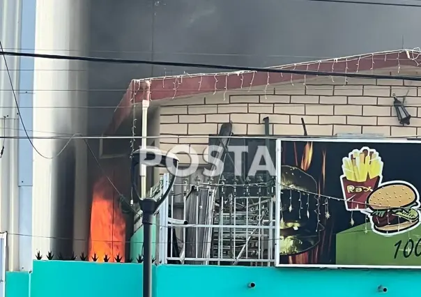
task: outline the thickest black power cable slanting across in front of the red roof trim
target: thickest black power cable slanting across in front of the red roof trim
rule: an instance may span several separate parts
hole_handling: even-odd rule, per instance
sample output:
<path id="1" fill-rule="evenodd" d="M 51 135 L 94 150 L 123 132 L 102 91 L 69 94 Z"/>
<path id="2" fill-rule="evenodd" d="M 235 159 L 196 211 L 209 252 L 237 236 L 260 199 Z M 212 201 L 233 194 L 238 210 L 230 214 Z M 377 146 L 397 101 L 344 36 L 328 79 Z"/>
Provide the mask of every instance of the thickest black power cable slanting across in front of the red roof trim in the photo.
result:
<path id="1" fill-rule="evenodd" d="M 135 65 L 155 65 L 155 66 L 175 66 L 175 67 L 189 67 L 189 68 L 209 68 L 217 70 L 231 70 L 231 71 L 248 71 L 248 72 L 263 72 L 263 73 L 284 73 L 291 75 L 313 75 L 313 76 L 337 76 L 337 77 L 358 77 L 368 79 L 406 79 L 408 81 L 421 81 L 421 77 L 406 76 L 406 75 L 369 75 L 362 73 L 336 73 L 313 70 L 289 70 L 276 68 L 258 68 L 245 66 L 224 66 L 217 64 L 203 64 L 203 63 L 181 63 L 181 62 L 167 62 L 167 61 L 147 61 L 134 59 L 109 59 L 98 58 L 91 56 L 66 56 L 59 54 L 32 54 L 23 52 L 5 52 L 1 50 L 0 54 L 5 56 L 26 56 L 40 59 L 56 59 L 56 60 L 70 60 L 70 61 L 88 61 L 99 63 L 120 63 L 120 64 L 135 64 Z"/>

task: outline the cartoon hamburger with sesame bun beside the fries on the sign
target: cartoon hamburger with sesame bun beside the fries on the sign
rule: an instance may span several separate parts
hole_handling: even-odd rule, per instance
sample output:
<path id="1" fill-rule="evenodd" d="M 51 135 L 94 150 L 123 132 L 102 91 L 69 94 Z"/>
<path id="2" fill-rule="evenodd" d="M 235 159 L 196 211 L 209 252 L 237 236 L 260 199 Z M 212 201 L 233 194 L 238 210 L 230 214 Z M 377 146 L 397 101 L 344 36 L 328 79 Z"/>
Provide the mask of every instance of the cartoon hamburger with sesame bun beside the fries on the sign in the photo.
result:
<path id="1" fill-rule="evenodd" d="M 397 234 L 412 229 L 420 223 L 418 191 L 409 183 L 392 181 L 384 183 L 367 198 L 367 205 L 374 231 Z"/>

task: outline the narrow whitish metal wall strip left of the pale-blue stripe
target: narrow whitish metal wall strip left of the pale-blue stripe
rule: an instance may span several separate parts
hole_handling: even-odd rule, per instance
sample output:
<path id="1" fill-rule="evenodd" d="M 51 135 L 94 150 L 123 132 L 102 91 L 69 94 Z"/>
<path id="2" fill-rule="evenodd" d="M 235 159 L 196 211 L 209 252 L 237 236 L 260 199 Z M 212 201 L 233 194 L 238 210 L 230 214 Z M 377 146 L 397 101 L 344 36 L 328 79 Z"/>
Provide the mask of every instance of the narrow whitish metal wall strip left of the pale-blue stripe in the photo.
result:
<path id="1" fill-rule="evenodd" d="M 3 50 L 8 51 L 20 47 L 21 8 L 22 0 L 0 0 L 0 40 Z M 20 59 L 13 56 L 0 56 L 0 59 L 0 131 L 2 137 L 11 137 L 2 139 L 0 144 L 0 150 L 3 152 L 0 162 L 0 231 L 8 231 L 9 234 L 6 269 L 13 271 L 19 269 L 20 239 L 17 236 L 19 222 L 18 139 L 14 138 L 18 136 L 19 129 L 15 103 L 15 96 L 18 100 L 18 95 L 16 91 L 13 92 L 13 89 L 19 84 L 17 69 L 20 67 Z"/>

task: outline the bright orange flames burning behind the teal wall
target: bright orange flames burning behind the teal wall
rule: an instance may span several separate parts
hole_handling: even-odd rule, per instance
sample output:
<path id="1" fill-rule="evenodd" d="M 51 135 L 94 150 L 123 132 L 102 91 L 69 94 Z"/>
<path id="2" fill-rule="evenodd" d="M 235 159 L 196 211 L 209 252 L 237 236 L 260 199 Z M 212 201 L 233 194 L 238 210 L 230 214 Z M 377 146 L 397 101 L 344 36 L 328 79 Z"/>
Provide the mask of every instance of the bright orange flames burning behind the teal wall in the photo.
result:
<path id="1" fill-rule="evenodd" d="M 93 187 L 89 259 L 96 253 L 98 261 L 104 261 L 107 254 L 112 262 L 117 254 L 124 259 L 124 252 L 125 220 L 118 199 L 114 199 L 114 189 L 107 178 L 102 177 Z"/>

